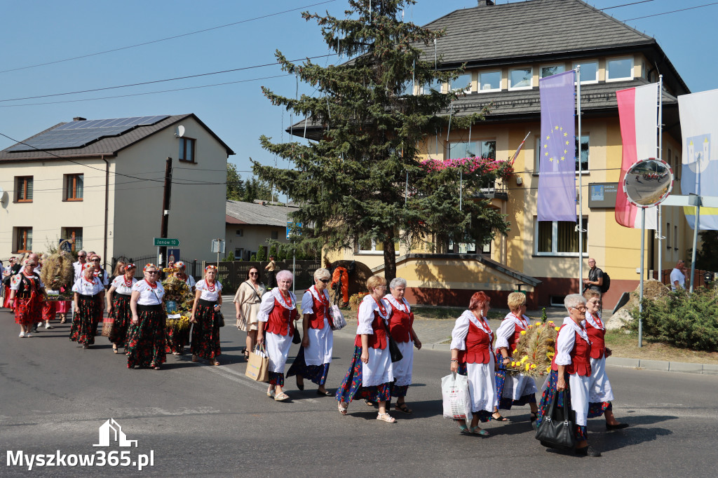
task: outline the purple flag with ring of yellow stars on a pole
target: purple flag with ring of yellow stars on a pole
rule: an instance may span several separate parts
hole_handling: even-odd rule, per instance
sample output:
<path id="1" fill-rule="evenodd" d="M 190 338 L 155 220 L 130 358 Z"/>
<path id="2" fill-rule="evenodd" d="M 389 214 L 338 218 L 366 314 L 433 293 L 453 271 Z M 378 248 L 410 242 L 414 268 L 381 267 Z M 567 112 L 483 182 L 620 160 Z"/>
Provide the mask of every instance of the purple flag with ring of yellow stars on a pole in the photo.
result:
<path id="1" fill-rule="evenodd" d="M 540 221 L 576 222 L 574 71 L 538 80 L 541 143 L 538 176 Z"/>

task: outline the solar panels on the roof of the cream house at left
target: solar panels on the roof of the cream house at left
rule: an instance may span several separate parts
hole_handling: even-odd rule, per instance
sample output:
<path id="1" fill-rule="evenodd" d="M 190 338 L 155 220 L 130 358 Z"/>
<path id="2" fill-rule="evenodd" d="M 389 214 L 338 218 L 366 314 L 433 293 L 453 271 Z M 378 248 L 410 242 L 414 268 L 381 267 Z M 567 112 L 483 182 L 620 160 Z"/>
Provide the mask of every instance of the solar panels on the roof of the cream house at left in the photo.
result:
<path id="1" fill-rule="evenodd" d="M 79 148 L 108 136 L 119 136 L 136 126 L 150 126 L 159 123 L 165 118 L 169 118 L 169 116 L 133 116 L 131 118 L 70 121 L 25 141 L 25 144 L 12 146 L 6 151 Z"/>

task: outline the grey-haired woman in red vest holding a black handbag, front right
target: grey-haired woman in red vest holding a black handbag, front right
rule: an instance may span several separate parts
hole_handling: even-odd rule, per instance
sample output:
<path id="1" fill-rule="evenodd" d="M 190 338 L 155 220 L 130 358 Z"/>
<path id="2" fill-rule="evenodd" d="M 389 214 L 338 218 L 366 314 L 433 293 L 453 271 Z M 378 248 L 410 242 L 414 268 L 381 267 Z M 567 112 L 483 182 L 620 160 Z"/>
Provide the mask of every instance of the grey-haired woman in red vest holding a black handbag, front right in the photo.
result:
<path id="1" fill-rule="evenodd" d="M 571 406 L 576 412 L 576 454 L 582 456 L 601 456 L 600 451 L 588 444 L 586 422 L 588 416 L 589 390 L 591 380 L 591 342 L 583 326 L 586 314 L 586 299 L 581 294 L 571 294 L 564 299 L 569 317 L 559 329 L 556 337 L 556 355 L 551 360 L 551 373 L 544 384 L 544 394 L 538 408 L 536 423 L 541 427 L 545 414 L 551 406 L 551 398 L 556 390 L 567 390 L 569 403 L 561 400 L 559 407 Z"/>

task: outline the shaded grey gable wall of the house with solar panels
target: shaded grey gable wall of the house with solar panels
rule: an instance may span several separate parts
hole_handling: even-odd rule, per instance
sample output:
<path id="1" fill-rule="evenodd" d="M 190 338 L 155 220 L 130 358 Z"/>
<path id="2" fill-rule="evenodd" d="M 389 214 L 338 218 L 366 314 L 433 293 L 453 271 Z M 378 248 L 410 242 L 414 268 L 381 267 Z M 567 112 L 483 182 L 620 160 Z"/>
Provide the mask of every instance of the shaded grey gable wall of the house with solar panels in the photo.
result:
<path id="1" fill-rule="evenodd" d="M 181 124 L 185 126 L 185 138 L 196 139 L 194 163 L 178 159 L 180 140 L 174 137 L 174 127 L 130 146 L 113 160 L 121 174 L 158 179 L 149 184 L 116 188 L 117 207 L 111 221 L 116 257 L 157 253 L 153 238 L 159 238 L 161 230 L 164 167 L 169 156 L 172 196 L 167 235 L 180 239 L 182 258 L 216 260 L 211 241 L 225 235 L 227 151 L 193 118 L 186 118 Z M 122 179 L 125 180 L 131 181 Z"/>

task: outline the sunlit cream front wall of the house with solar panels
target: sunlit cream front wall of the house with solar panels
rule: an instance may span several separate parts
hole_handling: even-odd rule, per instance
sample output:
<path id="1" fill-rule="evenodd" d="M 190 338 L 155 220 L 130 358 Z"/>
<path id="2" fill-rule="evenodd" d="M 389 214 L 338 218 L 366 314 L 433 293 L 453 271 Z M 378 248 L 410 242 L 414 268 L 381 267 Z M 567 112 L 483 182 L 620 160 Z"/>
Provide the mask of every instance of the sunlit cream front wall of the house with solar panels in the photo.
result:
<path id="1" fill-rule="evenodd" d="M 32 249 L 39 253 L 47 251 L 49 245 L 57 245 L 62 228 L 70 227 L 83 228 L 85 250 L 103 253 L 105 163 L 99 158 L 78 162 L 85 166 L 62 160 L 0 164 L 0 187 L 5 191 L 0 207 L 0 258 L 16 252 L 13 232 L 17 227 L 32 228 Z M 84 175 L 82 201 L 63 201 L 65 174 Z M 33 177 L 32 202 L 14 202 L 14 178 L 19 176 Z"/>

